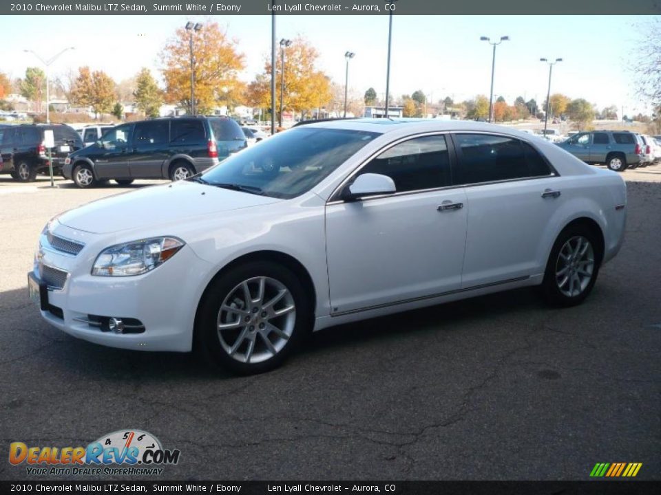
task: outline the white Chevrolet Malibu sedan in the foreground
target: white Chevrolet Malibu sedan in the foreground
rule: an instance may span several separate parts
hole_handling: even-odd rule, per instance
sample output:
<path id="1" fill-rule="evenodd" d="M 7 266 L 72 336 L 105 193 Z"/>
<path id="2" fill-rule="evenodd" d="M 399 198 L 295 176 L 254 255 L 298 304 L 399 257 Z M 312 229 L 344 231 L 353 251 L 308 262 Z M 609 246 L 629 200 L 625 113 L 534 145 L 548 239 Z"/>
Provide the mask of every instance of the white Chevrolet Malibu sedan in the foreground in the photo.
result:
<path id="1" fill-rule="evenodd" d="M 532 285 L 578 304 L 626 204 L 617 173 L 512 129 L 306 124 L 52 219 L 28 285 L 72 336 L 258 373 L 341 323 Z"/>

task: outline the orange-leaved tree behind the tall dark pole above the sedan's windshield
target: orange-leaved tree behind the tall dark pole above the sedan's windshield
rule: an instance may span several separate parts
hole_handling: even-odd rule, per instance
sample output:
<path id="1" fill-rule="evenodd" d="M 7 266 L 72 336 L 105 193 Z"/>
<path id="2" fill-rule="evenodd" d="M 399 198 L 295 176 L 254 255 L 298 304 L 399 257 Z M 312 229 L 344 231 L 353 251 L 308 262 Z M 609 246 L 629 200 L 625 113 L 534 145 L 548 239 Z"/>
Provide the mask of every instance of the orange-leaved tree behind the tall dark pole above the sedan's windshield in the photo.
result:
<path id="1" fill-rule="evenodd" d="M 284 90 L 283 108 L 290 111 L 305 111 L 326 107 L 333 99 L 330 78 L 315 67 L 319 53 L 302 36 L 284 47 Z M 275 109 L 280 109 L 280 82 L 282 79 L 282 57 L 275 63 Z M 264 72 L 258 74 L 248 85 L 247 98 L 254 107 L 271 107 L 271 62 L 264 63 Z"/>

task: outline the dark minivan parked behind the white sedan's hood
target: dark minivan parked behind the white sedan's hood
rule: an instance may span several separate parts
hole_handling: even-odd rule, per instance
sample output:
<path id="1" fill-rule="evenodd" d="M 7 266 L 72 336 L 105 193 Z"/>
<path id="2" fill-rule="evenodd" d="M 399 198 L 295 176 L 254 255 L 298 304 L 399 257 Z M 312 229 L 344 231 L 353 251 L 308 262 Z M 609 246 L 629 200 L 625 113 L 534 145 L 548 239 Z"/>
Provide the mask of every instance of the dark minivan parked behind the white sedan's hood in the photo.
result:
<path id="1" fill-rule="evenodd" d="M 63 175 L 85 188 L 114 179 L 180 180 L 218 164 L 247 146 L 239 124 L 224 117 L 167 117 L 129 122 L 72 153 Z"/>

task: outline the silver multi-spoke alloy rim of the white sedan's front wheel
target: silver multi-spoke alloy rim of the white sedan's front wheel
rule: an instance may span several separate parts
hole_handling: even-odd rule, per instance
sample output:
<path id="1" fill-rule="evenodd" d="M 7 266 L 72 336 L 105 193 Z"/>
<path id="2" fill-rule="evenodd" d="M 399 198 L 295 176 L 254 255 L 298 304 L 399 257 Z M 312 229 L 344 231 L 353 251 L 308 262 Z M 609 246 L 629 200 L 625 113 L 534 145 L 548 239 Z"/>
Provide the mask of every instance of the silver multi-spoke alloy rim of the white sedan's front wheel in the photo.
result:
<path id="1" fill-rule="evenodd" d="M 258 276 L 236 285 L 218 311 L 218 340 L 234 360 L 264 362 L 291 338 L 296 305 L 289 289 L 275 278 Z"/>

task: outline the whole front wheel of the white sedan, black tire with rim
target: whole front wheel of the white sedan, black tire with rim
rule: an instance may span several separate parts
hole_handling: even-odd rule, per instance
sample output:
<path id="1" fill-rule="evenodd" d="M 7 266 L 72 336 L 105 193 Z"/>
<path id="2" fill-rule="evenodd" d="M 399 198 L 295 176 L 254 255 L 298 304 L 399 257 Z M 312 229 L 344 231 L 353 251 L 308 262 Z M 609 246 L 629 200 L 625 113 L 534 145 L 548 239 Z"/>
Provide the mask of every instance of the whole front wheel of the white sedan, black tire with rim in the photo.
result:
<path id="1" fill-rule="evenodd" d="M 308 333 L 311 305 L 297 276 L 282 265 L 257 261 L 233 267 L 216 276 L 202 296 L 196 351 L 210 364 L 240 375 L 271 371 Z"/>

